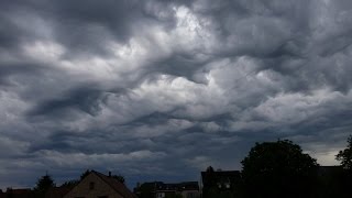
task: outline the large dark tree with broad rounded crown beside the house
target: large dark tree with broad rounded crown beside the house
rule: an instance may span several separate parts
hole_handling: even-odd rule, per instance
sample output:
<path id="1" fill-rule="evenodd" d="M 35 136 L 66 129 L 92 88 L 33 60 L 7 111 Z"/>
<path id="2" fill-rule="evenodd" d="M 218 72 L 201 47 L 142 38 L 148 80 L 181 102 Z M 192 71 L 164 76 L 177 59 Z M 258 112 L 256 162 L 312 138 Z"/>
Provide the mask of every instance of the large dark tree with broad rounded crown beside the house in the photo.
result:
<path id="1" fill-rule="evenodd" d="M 256 143 L 241 162 L 246 197 L 309 197 L 317 161 L 292 141 Z"/>

